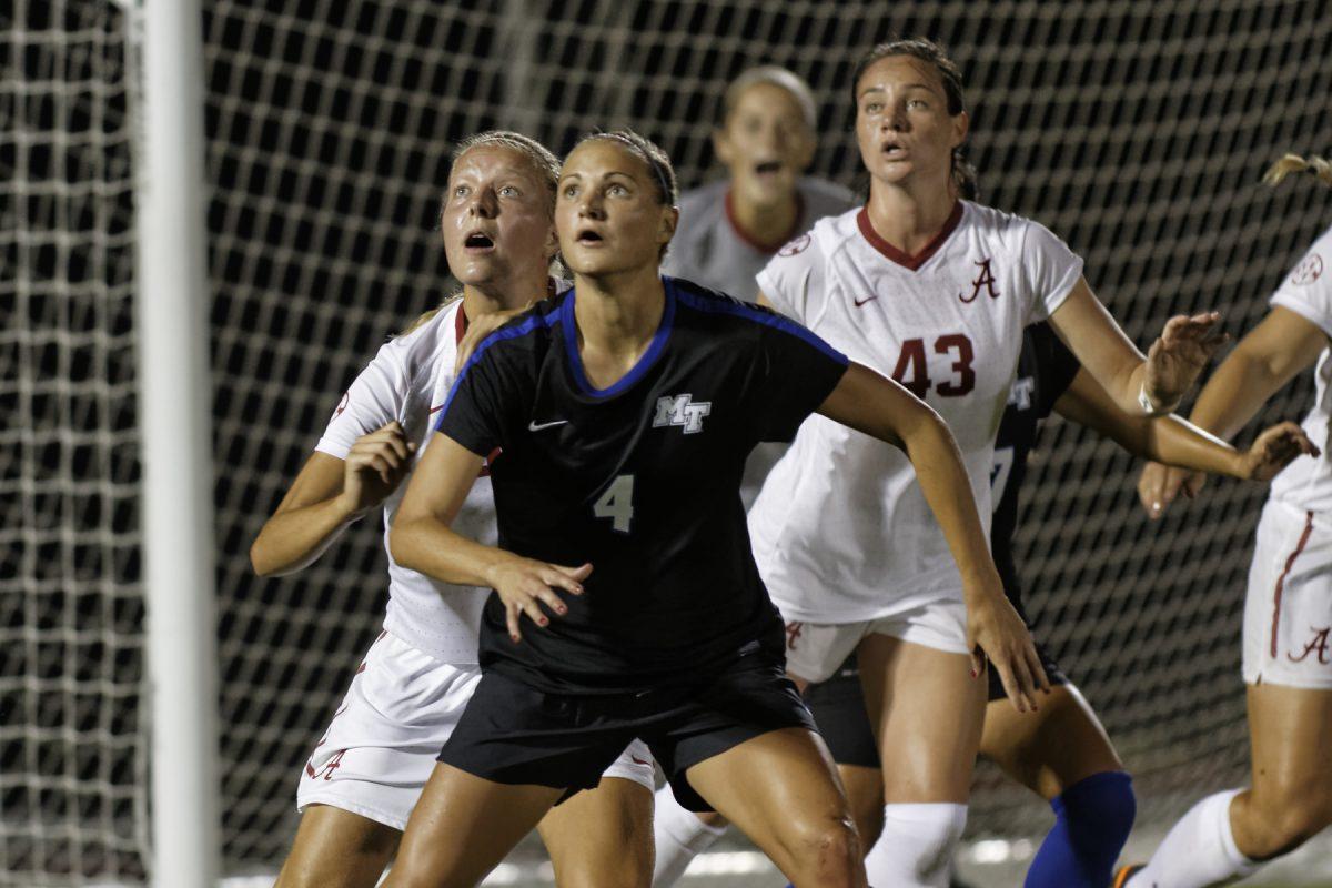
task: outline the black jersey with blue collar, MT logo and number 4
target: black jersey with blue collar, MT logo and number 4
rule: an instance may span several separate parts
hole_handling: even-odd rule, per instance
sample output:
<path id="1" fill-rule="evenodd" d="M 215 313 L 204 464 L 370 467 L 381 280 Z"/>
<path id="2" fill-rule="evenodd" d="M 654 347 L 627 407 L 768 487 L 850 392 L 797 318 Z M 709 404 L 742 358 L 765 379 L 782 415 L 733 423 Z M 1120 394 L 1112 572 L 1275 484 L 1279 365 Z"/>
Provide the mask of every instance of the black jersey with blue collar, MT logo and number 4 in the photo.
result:
<path id="1" fill-rule="evenodd" d="M 486 603 L 481 664 L 550 692 L 689 684 L 782 622 L 750 551 L 739 483 L 759 441 L 789 441 L 847 359 L 798 324 L 663 278 L 638 363 L 607 389 L 582 369 L 569 290 L 493 333 L 464 367 L 440 431 L 490 455 L 501 549 L 593 564 L 546 628 Z"/>

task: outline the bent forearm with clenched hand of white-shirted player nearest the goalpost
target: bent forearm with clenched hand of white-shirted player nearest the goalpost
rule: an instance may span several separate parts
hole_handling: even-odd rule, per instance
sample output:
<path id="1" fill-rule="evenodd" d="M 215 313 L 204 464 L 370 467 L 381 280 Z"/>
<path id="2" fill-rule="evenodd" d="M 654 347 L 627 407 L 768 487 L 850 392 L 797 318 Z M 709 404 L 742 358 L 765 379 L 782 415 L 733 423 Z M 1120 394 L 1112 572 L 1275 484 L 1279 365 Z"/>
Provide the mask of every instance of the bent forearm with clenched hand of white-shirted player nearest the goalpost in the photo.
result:
<path id="1" fill-rule="evenodd" d="M 250 546 L 260 576 L 306 567 L 338 534 L 393 493 L 412 466 L 413 445 L 390 422 L 352 445 L 346 459 L 316 451 Z"/>

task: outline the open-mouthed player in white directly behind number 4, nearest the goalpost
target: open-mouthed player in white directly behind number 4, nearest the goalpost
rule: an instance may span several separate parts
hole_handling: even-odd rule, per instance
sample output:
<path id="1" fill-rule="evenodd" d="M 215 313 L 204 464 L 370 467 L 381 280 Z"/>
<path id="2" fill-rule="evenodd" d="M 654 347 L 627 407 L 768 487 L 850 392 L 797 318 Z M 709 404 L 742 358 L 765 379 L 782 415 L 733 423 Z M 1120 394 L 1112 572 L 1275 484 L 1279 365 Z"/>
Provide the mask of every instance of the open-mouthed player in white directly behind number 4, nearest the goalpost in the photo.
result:
<path id="1" fill-rule="evenodd" d="M 462 297 L 422 316 L 380 349 L 338 403 L 250 550 L 262 575 L 309 564 L 353 521 L 384 506 L 385 543 L 402 482 L 430 441 L 454 381 L 469 320 L 529 304 L 554 286 L 554 190 L 559 164 L 541 144 L 489 132 L 454 152 L 440 213 Z M 477 477 L 480 474 L 480 478 Z M 460 527 L 494 541 L 486 469 L 473 473 Z M 296 843 L 278 888 L 370 888 L 393 856 L 440 747 L 480 680 L 477 632 L 488 590 L 441 583 L 389 558 L 384 632 L 306 763 Z M 653 766 L 642 743 L 623 751 L 595 792 L 539 824 L 561 885 L 646 885 Z"/>

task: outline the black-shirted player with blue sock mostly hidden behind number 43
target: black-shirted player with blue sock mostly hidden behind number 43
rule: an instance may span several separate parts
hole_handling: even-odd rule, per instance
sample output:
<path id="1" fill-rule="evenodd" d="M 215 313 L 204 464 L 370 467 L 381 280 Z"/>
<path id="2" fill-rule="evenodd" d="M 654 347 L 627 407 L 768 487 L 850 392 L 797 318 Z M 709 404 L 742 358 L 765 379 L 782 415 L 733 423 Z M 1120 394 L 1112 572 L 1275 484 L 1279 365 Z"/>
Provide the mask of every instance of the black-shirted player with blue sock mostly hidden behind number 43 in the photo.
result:
<path id="1" fill-rule="evenodd" d="M 1051 410 L 1114 438 L 1136 455 L 1236 478 L 1268 481 L 1301 449 L 1312 450 L 1295 423 L 1264 431 L 1253 446 L 1239 453 L 1177 417 L 1128 415 L 1080 370 L 1048 324 L 1027 328 L 1018 375 L 995 441 L 990 530 L 1004 591 L 1024 619 L 1012 537 L 1027 455 L 1040 421 Z M 1039 711 L 1022 715 L 1006 703 L 1003 686 L 991 672 L 980 755 L 996 762 L 1055 811 L 1055 827 L 1032 860 L 1027 888 L 1104 888 L 1132 825 L 1131 783 L 1087 700 L 1039 643 L 1036 650 L 1055 687 Z M 805 702 L 838 763 L 856 828 L 866 841 L 872 841 L 882 820 L 883 779 L 855 658 L 829 680 L 806 688 Z M 713 819 L 699 823 L 695 815 L 658 792 L 653 823 L 654 888 L 674 884 L 693 856 L 710 844 L 719 825 Z"/>

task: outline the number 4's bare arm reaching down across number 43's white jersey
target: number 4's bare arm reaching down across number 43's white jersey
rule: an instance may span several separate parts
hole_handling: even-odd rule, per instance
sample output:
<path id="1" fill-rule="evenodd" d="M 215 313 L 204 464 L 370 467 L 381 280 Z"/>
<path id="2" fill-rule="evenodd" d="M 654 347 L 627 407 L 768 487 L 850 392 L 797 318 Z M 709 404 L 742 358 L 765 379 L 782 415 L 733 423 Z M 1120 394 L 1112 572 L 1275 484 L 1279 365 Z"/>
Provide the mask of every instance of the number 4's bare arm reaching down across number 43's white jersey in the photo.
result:
<path id="1" fill-rule="evenodd" d="M 1036 690 L 1048 691 L 1050 682 L 1031 634 L 1003 594 L 962 451 L 948 426 L 900 385 L 859 363 L 847 367 L 818 411 L 906 451 L 962 572 L 975 671 L 984 666 L 983 651 L 1018 711 L 1035 708 Z"/>

